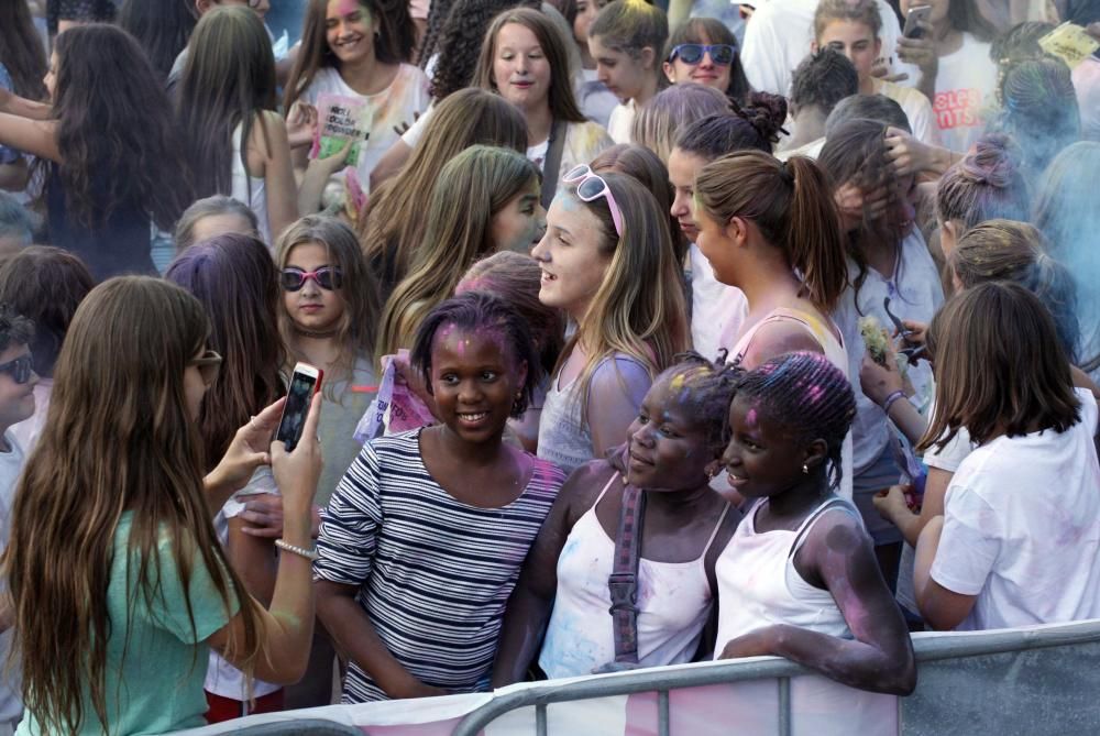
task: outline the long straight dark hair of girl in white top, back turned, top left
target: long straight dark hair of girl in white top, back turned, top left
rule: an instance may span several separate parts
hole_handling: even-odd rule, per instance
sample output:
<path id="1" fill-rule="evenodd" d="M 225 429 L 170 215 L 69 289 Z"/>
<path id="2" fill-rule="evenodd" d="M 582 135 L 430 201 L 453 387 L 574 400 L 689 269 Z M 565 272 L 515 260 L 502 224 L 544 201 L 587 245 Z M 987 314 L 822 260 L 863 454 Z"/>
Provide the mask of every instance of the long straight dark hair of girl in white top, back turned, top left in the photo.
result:
<path id="1" fill-rule="evenodd" d="M 274 111 L 275 57 L 263 22 L 249 8 L 227 6 L 202 15 L 195 26 L 179 83 L 178 117 L 195 194 L 233 190 L 233 156 L 248 171 L 252 127 Z M 240 151 L 233 131 L 241 127 Z M 264 145 L 271 150 L 261 122 Z M 250 195 L 251 196 L 251 195 Z"/>

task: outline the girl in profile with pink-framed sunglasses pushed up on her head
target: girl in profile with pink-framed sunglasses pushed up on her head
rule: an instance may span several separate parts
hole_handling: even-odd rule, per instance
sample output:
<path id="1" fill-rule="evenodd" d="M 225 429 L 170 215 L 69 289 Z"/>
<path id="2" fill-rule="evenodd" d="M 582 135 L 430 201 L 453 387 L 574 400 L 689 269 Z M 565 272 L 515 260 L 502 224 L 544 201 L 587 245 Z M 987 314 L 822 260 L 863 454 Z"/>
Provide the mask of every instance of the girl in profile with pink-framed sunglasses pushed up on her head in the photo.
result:
<path id="1" fill-rule="evenodd" d="M 539 299 L 576 326 L 539 422 L 539 457 L 572 472 L 626 439 L 653 376 L 690 337 L 681 264 L 653 195 L 587 166 L 562 182 L 531 254 Z"/>

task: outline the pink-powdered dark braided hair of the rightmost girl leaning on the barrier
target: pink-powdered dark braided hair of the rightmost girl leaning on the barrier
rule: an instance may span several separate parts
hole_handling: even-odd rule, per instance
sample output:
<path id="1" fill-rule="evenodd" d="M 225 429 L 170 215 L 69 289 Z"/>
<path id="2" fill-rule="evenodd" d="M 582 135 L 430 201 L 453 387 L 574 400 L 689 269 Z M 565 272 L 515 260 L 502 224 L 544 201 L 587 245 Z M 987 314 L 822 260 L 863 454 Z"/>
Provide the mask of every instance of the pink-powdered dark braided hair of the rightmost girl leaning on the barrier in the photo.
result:
<path id="1" fill-rule="evenodd" d="M 757 411 L 792 430 L 798 442 L 824 440 L 829 486 L 840 485 L 840 448 L 856 416 L 856 395 L 825 355 L 802 351 L 772 358 L 744 375 L 735 398 L 757 399 Z"/>

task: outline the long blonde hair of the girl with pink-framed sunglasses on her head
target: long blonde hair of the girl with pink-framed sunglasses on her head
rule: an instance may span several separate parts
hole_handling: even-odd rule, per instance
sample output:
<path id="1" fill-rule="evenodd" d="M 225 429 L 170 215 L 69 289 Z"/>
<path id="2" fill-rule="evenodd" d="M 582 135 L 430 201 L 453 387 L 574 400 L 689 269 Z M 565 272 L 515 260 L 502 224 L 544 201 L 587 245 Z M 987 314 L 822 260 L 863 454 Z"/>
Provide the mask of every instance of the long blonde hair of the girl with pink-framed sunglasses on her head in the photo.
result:
<path id="1" fill-rule="evenodd" d="M 587 361 L 578 378 L 576 396 L 587 396 L 592 375 L 605 358 L 629 355 L 652 377 L 690 345 L 683 271 L 670 240 L 668 216 L 634 177 L 613 173 L 601 177 L 623 213 L 623 234 L 615 231 L 605 198 L 592 202 L 578 199 L 600 220 L 600 250 L 609 262 L 603 283 L 554 367 L 557 375 L 573 349 L 581 345 Z M 558 196 L 576 197 L 576 187 L 568 186 Z M 583 404 L 581 421 L 587 422 Z"/>

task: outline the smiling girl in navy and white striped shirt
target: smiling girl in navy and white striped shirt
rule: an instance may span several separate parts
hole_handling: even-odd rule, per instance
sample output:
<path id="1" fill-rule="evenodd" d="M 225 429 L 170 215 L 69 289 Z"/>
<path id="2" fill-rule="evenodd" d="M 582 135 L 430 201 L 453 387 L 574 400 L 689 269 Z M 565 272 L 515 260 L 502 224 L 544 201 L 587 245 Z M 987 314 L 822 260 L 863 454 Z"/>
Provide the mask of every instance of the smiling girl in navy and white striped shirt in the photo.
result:
<path id="1" fill-rule="evenodd" d="M 564 480 L 502 441 L 540 377 L 517 312 L 477 292 L 444 301 L 410 358 L 441 424 L 367 443 L 317 546 L 343 703 L 488 688 L 504 605 Z"/>

